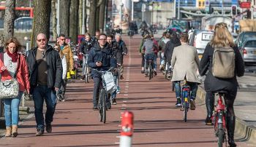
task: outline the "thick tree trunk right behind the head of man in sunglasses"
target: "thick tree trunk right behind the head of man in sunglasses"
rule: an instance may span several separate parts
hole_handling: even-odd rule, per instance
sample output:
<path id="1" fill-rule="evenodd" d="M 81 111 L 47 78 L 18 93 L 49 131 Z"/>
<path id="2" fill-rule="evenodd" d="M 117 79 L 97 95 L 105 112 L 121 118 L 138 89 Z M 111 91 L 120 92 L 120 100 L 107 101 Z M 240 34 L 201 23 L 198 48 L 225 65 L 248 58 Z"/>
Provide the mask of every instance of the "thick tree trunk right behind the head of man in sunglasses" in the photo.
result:
<path id="1" fill-rule="evenodd" d="M 45 33 L 50 38 L 50 4 L 51 0 L 34 0 L 34 20 L 31 35 L 31 47 L 36 47 L 39 33 Z"/>

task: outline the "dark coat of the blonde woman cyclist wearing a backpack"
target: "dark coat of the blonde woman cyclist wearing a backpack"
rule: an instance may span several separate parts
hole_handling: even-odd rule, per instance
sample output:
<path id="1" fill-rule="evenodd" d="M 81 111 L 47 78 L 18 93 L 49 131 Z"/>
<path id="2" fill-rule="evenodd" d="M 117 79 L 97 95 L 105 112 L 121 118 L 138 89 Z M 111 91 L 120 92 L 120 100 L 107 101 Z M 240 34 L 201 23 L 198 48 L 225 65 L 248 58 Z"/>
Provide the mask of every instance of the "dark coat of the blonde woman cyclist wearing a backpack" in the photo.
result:
<path id="1" fill-rule="evenodd" d="M 233 47 L 236 55 L 236 67 L 235 75 L 244 76 L 244 60 L 241 57 L 238 47 Z M 212 75 L 212 58 L 214 55 L 214 48 L 210 44 L 206 46 L 205 52 L 203 52 L 203 57 L 200 60 L 199 72 L 203 76 L 206 74 L 206 80 L 204 82 L 206 92 L 217 92 L 219 90 L 236 91 L 238 88 L 238 82 L 236 76 L 231 79 L 219 79 Z M 208 71 L 208 73 L 206 73 Z"/>

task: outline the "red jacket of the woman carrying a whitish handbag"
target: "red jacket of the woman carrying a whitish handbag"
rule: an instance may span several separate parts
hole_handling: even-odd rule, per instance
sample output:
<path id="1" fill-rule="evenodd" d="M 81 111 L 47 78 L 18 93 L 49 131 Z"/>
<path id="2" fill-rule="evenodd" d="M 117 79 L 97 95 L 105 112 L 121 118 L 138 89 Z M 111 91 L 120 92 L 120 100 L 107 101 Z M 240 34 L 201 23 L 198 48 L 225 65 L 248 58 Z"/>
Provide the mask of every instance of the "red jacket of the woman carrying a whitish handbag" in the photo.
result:
<path id="1" fill-rule="evenodd" d="M 9 71 L 1 71 L 1 67 L 4 65 L 2 59 L 3 53 L 0 54 L 0 73 L 1 73 L 1 81 L 5 81 L 8 79 L 12 79 L 12 76 L 10 75 Z M 20 91 L 27 91 L 29 92 L 30 89 L 30 84 L 29 84 L 29 68 L 28 65 L 26 64 L 26 59 L 23 55 L 18 54 L 20 57 L 20 63 L 19 60 L 17 61 L 17 65 L 20 64 L 18 71 L 17 71 L 17 76 L 16 79 L 20 85 Z"/>

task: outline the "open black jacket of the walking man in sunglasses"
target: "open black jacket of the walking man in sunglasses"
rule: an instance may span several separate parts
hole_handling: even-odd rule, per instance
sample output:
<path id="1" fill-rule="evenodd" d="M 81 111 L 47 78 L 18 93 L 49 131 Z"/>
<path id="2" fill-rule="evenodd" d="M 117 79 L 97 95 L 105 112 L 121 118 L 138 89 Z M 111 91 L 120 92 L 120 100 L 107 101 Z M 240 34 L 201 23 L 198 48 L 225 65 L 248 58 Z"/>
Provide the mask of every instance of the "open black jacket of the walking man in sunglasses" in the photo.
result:
<path id="1" fill-rule="evenodd" d="M 27 63 L 29 66 L 29 82 L 31 85 L 31 90 L 33 91 L 34 87 L 37 86 L 37 47 L 29 50 Z M 46 62 L 48 65 L 48 87 L 53 88 L 61 87 L 61 79 L 62 79 L 62 64 L 61 58 L 59 57 L 59 52 L 57 52 L 50 45 L 47 46 L 45 52 Z M 31 91 L 31 92 L 32 92 Z"/>

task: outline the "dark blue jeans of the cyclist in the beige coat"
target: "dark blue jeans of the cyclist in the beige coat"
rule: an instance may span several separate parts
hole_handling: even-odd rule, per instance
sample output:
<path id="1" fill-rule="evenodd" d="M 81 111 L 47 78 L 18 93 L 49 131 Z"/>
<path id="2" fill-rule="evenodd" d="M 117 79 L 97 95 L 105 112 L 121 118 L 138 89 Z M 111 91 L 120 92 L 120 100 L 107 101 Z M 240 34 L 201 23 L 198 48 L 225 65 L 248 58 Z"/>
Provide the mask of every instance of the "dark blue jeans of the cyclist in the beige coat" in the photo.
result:
<path id="1" fill-rule="evenodd" d="M 181 82 L 177 81 L 174 83 L 175 83 L 176 98 L 181 98 Z M 187 84 L 189 85 L 190 90 L 191 90 L 191 99 L 195 100 L 195 98 L 197 97 L 198 85 L 195 82 L 187 82 Z"/>

